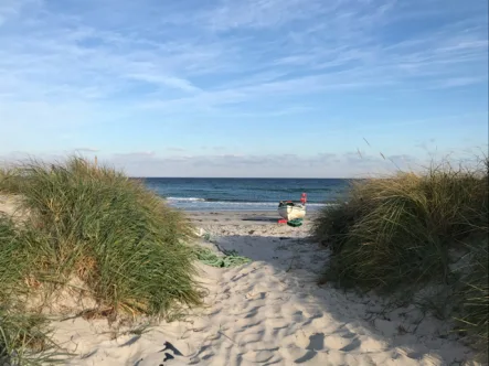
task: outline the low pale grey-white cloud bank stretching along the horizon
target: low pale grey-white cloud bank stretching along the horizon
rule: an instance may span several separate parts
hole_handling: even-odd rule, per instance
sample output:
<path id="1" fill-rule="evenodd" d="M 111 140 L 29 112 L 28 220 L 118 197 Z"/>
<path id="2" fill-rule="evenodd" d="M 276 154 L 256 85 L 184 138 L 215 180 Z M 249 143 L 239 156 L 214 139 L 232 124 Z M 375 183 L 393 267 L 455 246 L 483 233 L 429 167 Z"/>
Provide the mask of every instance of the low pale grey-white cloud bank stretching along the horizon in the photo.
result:
<path id="1" fill-rule="evenodd" d="M 435 139 L 418 143 L 423 150 L 434 146 Z M 487 147 L 486 147 L 487 148 Z M 85 150 L 85 151 L 81 151 Z M 209 177 L 365 177 L 383 176 L 398 171 L 423 172 L 432 163 L 459 163 L 476 165 L 483 155 L 483 148 L 467 148 L 463 151 L 430 149 L 423 153 L 382 154 L 372 149 L 344 153 L 321 152 L 309 155 L 299 154 L 235 154 L 219 153 L 220 147 L 210 148 L 215 152 L 200 155 L 158 154 L 153 151 L 98 154 L 98 163 L 124 171 L 130 176 L 209 176 Z M 97 149 L 78 149 L 78 157 L 92 159 Z M 73 153 L 71 153 L 72 155 Z M 0 155 L 0 164 L 30 161 L 33 157 L 22 151 Z M 62 162 L 65 154 L 41 153 L 36 159 L 44 162 Z"/>

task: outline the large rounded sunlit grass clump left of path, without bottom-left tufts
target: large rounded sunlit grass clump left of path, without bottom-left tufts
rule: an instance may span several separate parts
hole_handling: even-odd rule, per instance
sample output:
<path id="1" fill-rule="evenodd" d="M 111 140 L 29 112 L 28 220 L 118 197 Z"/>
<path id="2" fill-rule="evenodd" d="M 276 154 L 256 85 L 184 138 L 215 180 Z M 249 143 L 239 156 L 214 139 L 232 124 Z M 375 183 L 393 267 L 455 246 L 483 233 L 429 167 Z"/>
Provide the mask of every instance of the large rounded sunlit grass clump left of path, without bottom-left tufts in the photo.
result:
<path id="1" fill-rule="evenodd" d="M 142 183 L 72 158 L 18 166 L 2 187 L 30 213 L 22 240 L 36 281 L 77 278 L 104 312 L 170 316 L 200 303 L 191 227 Z"/>

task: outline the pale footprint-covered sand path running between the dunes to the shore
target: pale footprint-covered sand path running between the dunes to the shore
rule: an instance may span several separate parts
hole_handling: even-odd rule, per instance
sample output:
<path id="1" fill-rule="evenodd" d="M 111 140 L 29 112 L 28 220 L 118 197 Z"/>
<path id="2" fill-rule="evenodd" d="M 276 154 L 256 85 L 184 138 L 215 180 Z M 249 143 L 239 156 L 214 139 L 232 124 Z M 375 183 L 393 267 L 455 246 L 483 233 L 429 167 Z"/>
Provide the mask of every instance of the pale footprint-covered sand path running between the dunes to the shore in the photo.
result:
<path id="1" fill-rule="evenodd" d="M 115 337 L 106 321 L 53 322 L 57 343 L 77 355 L 68 365 L 450 365 L 472 356 L 448 324 L 415 306 L 319 287 L 329 251 L 307 239 L 308 225 L 278 225 L 273 213 L 193 219 L 253 262 L 200 266 L 208 306 L 140 335 Z"/>

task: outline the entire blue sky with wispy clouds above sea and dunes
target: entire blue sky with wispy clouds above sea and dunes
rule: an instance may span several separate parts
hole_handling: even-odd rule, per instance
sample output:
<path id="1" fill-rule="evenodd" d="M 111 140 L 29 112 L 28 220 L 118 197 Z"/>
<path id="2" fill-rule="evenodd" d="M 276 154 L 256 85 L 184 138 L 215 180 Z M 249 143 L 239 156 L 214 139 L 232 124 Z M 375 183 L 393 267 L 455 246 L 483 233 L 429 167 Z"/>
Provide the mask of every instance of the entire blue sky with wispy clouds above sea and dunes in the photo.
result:
<path id="1" fill-rule="evenodd" d="M 487 148 L 487 0 L 0 0 L 2 163 L 351 177 Z"/>

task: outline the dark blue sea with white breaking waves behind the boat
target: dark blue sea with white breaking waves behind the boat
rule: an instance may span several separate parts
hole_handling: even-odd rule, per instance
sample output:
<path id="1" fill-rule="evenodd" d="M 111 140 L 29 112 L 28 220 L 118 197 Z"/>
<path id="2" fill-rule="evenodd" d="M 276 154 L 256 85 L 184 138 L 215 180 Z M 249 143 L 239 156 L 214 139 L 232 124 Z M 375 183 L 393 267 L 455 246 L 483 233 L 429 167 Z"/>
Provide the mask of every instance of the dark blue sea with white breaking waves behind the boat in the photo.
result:
<path id="1" fill-rule="evenodd" d="M 307 193 L 309 211 L 332 204 L 346 191 L 342 179 L 147 177 L 145 184 L 174 207 L 188 211 L 275 211 L 279 201 Z"/>

